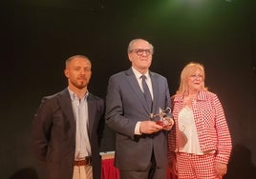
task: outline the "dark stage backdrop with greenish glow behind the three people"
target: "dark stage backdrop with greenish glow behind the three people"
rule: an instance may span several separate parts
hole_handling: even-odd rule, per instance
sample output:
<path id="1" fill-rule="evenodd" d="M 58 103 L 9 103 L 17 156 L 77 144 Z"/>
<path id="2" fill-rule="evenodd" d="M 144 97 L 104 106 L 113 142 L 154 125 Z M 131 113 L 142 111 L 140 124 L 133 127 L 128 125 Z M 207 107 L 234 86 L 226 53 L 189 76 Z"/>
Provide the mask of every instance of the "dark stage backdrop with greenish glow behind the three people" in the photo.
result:
<path id="1" fill-rule="evenodd" d="M 109 76 L 130 67 L 126 48 L 133 38 L 154 45 L 151 70 L 167 77 L 171 94 L 186 63 L 203 63 L 206 86 L 223 102 L 234 145 L 225 178 L 255 178 L 254 0 L 3 0 L 0 5 L 0 178 L 40 177 L 30 149 L 32 117 L 42 96 L 67 86 L 66 58 L 91 58 L 89 89 L 104 98 Z M 101 150 L 114 146 L 114 132 L 106 129 Z"/>

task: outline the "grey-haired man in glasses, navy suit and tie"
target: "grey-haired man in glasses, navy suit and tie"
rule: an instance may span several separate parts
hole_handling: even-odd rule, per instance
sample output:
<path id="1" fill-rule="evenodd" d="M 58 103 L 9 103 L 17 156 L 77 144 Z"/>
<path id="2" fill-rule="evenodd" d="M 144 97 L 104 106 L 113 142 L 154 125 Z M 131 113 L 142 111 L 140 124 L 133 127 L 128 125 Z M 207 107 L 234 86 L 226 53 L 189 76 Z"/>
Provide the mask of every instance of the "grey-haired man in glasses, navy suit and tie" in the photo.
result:
<path id="1" fill-rule="evenodd" d="M 170 94 L 166 78 L 149 70 L 153 50 L 146 40 L 132 40 L 132 67 L 109 79 L 105 119 L 117 131 L 115 165 L 121 179 L 166 178 L 168 131 L 150 116 L 170 107 Z"/>

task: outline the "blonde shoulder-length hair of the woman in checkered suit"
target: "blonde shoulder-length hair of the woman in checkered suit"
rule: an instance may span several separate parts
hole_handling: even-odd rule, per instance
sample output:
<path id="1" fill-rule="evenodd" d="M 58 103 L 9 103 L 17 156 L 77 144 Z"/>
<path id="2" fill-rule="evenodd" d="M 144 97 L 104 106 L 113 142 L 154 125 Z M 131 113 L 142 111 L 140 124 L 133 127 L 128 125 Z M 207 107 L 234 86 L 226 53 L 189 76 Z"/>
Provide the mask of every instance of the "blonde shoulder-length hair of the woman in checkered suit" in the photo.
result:
<path id="1" fill-rule="evenodd" d="M 180 81 L 180 87 L 177 90 L 177 94 L 186 94 L 188 92 L 188 85 L 187 81 L 188 78 L 196 72 L 196 70 L 201 70 L 202 71 L 202 78 L 203 78 L 203 84 L 202 84 L 202 89 L 207 90 L 206 87 L 204 87 L 204 79 L 205 79 L 205 72 L 204 72 L 204 67 L 202 64 L 196 63 L 196 62 L 190 62 L 187 64 L 183 70 L 181 71 L 181 81 Z"/>

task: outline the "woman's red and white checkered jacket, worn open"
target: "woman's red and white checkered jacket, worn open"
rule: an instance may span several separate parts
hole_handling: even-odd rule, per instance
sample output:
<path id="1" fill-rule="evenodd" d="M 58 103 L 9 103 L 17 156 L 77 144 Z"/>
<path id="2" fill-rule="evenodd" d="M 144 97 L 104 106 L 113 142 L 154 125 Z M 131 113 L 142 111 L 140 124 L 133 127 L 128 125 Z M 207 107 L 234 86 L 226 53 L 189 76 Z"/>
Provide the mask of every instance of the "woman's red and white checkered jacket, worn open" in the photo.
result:
<path id="1" fill-rule="evenodd" d="M 175 127 L 169 134 L 169 151 L 179 152 L 176 135 L 177 119 L 184 107 L 183 96 L 176 94 L 172 97 L 172 112 Z M 198 98 L 192 103 L 196 129 L 198 131 L 200 148 L 203 152 L 215 150 L 215 161 L 227 164 L 232 149 L 230 132 L 225 120 L 224 109 L 218 96 L 210 91 L 201 90 Z M 173 155 L 169 152 L 169 159 Z M 202 164 L 205 168 L 205 165 Z"/>

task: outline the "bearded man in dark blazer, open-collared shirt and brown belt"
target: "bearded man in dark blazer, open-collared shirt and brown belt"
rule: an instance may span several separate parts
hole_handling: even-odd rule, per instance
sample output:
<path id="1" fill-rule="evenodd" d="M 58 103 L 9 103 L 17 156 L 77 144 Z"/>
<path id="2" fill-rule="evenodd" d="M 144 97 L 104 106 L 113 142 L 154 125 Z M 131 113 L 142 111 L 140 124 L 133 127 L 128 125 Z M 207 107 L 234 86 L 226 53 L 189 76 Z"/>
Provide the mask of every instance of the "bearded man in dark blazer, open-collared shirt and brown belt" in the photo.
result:
<path id="1" fill-rule="evenodd" d="M 66 61 L 68 88 L 42 99 L 32 124 L 32 149 L 48 179 L 100 179 L 104 102 L 87 89 L 92 64 Z"/>

